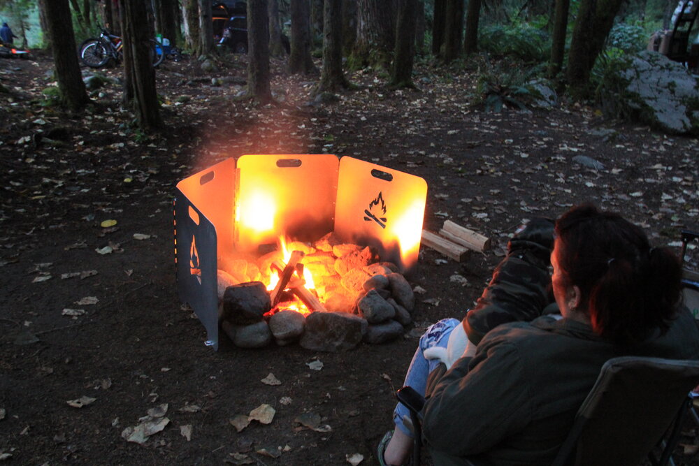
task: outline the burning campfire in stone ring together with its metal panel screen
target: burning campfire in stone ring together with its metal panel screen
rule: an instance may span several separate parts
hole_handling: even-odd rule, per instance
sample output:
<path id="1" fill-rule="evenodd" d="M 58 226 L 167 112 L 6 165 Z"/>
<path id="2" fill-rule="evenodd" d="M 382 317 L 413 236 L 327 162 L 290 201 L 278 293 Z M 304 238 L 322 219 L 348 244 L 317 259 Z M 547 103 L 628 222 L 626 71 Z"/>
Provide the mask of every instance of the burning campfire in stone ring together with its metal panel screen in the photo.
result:
<path id="1" fill-rule="evenodd" d="M 177 185 L 180 298 L 215 349 L 219 328 L 243 347 L 381 341 L 410 319 L 401 274 L 417 262 L 426 193 L 419 177 L 347 156 L 226 159 Z"/>

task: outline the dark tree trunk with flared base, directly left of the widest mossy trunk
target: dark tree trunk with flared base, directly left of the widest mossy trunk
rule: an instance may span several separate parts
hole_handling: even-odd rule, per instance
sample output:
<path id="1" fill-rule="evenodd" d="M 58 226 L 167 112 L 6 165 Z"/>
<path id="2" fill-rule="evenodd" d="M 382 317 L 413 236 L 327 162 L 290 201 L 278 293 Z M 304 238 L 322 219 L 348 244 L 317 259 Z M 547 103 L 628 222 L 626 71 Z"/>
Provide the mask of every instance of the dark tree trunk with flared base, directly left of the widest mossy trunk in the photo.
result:
<path id="1" fill-rule="evenodd" d="M 323 69 L 317 92 L 349 87 L 343 73 L 342 0 L 325 0 L 323 25 Z"/>

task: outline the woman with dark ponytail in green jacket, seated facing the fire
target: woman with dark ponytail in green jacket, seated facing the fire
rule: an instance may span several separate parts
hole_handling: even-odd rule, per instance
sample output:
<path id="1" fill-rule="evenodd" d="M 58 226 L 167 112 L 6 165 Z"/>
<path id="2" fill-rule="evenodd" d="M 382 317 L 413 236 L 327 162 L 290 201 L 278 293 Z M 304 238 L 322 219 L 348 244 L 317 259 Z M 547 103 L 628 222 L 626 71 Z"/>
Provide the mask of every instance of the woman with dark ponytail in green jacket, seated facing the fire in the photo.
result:
<path id="1" fill-rule="evenodd" d="M 440 321 L 421 337 L 406 382 L 426 394 L 424 441 L 436 465 L 550 464 L 607 360 L 699 359 L 699 330 L 679 305 L 682 270 L 670 249 L 651 247 L 640 227 L 589 204 L 556 221 L 554 241 L 537 235 L 545 225 L 515 235 L 461 323 Z M 554 245 L 552 275 L 542 274 L 543 250 L 527 242 Z M 552 307 L 559 313 L 545 311 Z M 397 407 L 382 465 L 408 458 L 403 416 Z"/>

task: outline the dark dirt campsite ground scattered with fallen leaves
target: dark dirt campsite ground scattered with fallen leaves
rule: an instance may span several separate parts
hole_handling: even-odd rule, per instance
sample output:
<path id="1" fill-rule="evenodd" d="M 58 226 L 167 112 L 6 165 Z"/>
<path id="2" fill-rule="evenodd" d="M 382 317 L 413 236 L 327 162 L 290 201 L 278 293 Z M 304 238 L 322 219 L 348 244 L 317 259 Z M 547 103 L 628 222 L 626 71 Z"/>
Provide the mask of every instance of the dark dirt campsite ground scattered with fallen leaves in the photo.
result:
<path id="1" fill-rule="evenodd" d="M 390 91 L 384 76 L 362 71 L 349 75 L 359 89 L 309 105 L 316 78 L 289 77 L 275 60 L 279 103 L 252 107 L 235 99 L 245 59 L 229 55 L 215 73 L 194 58 L 166 61 L 157 70 L 166 129 L 154 136 L 131 129 L 118 83 L 94 91 L 85 115 L 66 115 L 42 104 L 50 57 L 0 61 L 9 90 L 0 94 L 0 460 L 343 465 L 359 453 L 377 464 L 417 335 L 463 317 L 524 219 L 593 201 L 677 252 L 682 228 L 699 228 L 696 138 L 605 122 L 565 102 L 484 113 L 470 106 L 473 70 L 427 61 L 417 66 L 419 91 Z M 212 351 L 178 298 L 175 184 L 228 157 L 321 152 L 424 177 L 425 228 L 450 219 L 487 235 L 492 249 L 457 263 L 423 247 L 408 279 L 425 293 L 401 340 L 317 353 L 238 349 L 222 337 Z M 581 155 L 604 168 L 573 160 Z M 321 370 L 309 367 L 315 360 Z M 261 381 L 270 373 L 281 384 Z M 231 425 L 263 404 L 276 411 L 271 423 Z M 164 430 L 143 445 L 122 438 L 161 405 Z M 316 430 L 296 421 L 302 415 Z M 696 464 L 693 442 L 685 463 Z"/>

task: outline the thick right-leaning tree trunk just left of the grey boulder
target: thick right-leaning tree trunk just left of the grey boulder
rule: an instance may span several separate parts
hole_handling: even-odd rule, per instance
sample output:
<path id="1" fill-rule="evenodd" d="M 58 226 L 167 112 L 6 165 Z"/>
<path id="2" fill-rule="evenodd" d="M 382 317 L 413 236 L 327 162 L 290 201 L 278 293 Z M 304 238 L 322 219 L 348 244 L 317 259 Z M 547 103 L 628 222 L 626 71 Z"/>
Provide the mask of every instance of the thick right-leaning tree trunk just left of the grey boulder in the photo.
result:
<path id="1" fill-rule="evenodd" d="M 590 72 L 619 11 L 622 0 L 582 0 L 570 39 L 568 84 L 573 94 L 585 96 Z"/>

